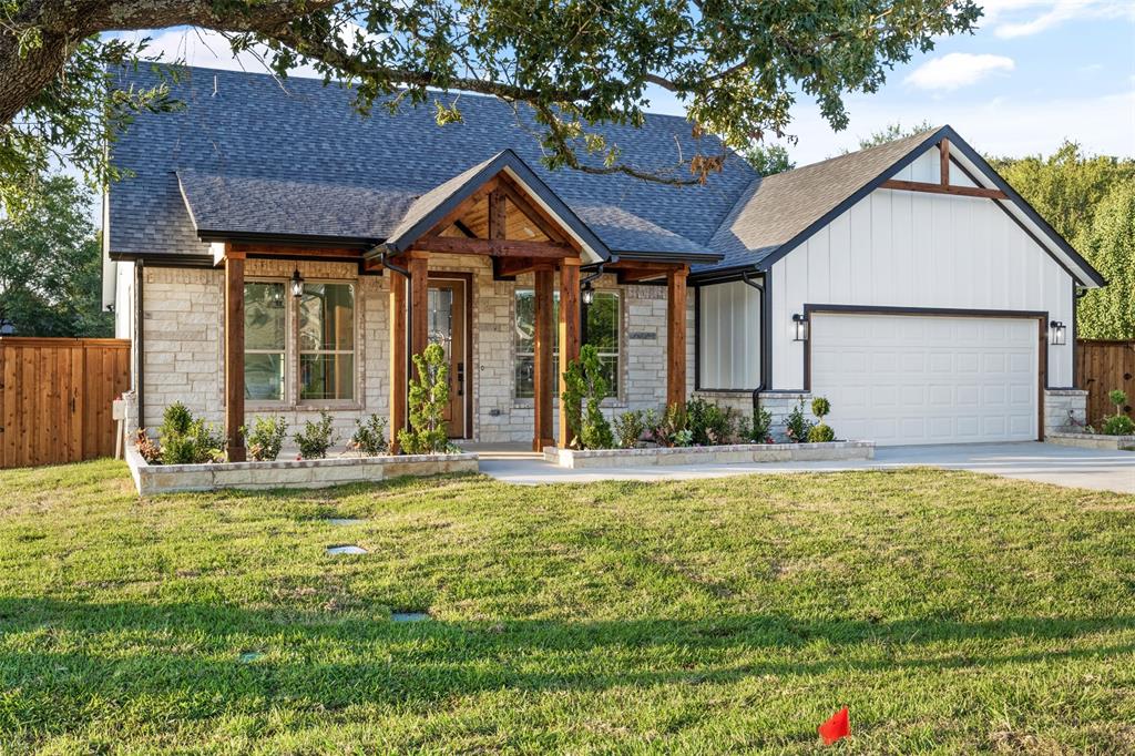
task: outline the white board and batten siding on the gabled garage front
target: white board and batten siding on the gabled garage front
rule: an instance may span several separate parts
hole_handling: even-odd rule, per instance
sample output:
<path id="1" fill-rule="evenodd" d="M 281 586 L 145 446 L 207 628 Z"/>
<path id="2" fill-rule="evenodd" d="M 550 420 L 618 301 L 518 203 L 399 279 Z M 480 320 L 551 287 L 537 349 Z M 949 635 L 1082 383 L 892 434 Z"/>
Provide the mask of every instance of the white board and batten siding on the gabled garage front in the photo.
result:
<path id="1" fill-rule="evenodd" d="M 774 263 L 773 388 L 804 385 L 792 314 L 806 303 L 1048 312 L 1070 328 L 1073 279 L 992 200 L 876 190 Z M 1050 386 L 1073 383 L 1068 341 L 1048 350 Z"/>

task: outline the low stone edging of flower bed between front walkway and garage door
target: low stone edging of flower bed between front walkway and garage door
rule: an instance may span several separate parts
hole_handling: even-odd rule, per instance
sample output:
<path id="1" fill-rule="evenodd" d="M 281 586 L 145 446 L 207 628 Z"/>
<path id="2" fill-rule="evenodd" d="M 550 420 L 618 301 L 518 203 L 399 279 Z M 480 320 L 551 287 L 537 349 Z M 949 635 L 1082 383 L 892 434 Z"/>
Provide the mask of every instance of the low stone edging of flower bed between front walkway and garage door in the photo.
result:
<path id="1" fill-rule="evenodd" d="M 544 459 L 561 468 L 637 468 L 672 464 L 738 464 L 746 462 L 813 462 L 871 460 L 875 443 L 861 440 L 823 444 L 729 444 L 651 448 L 572 450 L 544 447 Z"/>

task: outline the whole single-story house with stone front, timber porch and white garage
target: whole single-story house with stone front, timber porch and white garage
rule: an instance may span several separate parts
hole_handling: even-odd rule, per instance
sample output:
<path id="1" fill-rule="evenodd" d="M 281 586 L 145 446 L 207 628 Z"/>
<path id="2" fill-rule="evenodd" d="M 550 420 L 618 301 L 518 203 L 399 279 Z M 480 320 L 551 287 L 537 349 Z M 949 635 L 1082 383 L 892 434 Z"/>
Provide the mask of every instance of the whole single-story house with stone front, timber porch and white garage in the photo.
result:
<path id="1" fill-rule="evenodd" d="M 150 73 L 124 74 L 123 85 Z M 780 422 L 827 396 L 841 436 L 1027 440 L 1084 412 L 1075 302 L 1103 280 L 950 127 L 704 186 L 549 171 L 523 110 L 462 96 L 355 115 L 321 82 L 190 69 L 186 108 L 112 145 L 107 296 L 135 423 L 329 411 L 405 422 L 410 355 L 452 363 L 455 438 L 563 444 L 565 358 L 611 412 L 691 394 Z M 682 118 L 606 127 L 666 170 L 720 151 Z M 707 144 L 708 141 L 708 144 Z"/>

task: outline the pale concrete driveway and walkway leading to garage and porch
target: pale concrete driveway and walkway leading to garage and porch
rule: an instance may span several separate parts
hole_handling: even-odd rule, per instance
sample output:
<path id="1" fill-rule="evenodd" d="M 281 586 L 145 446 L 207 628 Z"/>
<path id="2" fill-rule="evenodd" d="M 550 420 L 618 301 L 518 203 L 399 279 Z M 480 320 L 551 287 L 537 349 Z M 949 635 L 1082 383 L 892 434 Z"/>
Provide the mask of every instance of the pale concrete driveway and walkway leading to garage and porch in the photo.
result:
<path id="1" fill-rule="evenodd" d="M 482 454 L 481 472 L 521 485 L 596 480 L 695 480 L 755 472 L 838 472 L 930 465 L 972 470 L 1006 478 L 1135 494 L 1135 452 L 1105 452 L 1056 444 L 965 444 L 885 446 L 874 460 L 715 464 L 699 468 L 642 467 L 565 470 L 533 454 Z"/>

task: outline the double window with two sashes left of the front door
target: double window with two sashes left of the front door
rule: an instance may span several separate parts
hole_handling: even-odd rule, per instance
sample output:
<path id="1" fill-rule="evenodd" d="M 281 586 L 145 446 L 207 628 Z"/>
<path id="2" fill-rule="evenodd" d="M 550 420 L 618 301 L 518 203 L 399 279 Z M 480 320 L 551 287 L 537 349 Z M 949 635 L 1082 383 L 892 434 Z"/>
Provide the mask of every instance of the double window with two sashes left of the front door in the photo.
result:
<path id="1" fill-rule="evenodd" d="M 245 398 L 288 401 L 287 376 L 297 366 L 299 401 L 353 401 L 354 330 L 352 284 L 305 283 L 297 300 L 285 282 L 247 282 Z"/>

